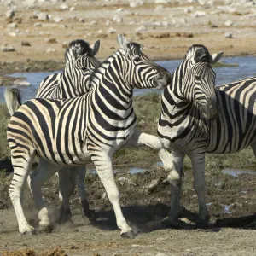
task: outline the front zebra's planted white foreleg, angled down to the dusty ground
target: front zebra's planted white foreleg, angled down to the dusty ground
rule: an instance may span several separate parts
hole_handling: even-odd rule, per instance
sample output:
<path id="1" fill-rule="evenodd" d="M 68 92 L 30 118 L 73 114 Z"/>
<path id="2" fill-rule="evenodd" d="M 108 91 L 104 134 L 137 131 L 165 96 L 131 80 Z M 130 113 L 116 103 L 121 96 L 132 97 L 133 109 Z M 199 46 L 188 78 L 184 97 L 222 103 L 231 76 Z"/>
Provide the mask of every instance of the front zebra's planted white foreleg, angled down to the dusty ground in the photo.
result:
<path id="1" fill-rule="evenodd" d="M 100 155 L 98 158 L 92 156 L 92 160 L 106 190 L 108 199 L 113 205 L 113 211 L 115 213 L 117 226 L 121 230 L 121 236 L 125 238 L 133 238 L 134 233 L 131 227 L 126 223 L 125 217 L 119 204 L 119 189 L 117 188 L 113 177 L 111 159 L 108 156 Z"/>

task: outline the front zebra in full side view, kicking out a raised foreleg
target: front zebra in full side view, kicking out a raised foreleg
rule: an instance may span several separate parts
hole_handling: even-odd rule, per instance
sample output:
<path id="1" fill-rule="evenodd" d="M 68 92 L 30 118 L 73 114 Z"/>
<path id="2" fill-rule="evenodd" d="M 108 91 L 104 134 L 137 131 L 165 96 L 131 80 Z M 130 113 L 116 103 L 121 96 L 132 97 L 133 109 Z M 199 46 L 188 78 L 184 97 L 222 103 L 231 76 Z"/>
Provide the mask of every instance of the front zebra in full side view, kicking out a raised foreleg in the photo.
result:
<path id="1" fill-rule="evenodd" d="M 14 166 L 9 195 L 20 233 L 33 232 L 20 204 L 20 192 L 35 154 L 41 156 L 40 171 L 31 175 L 32 195 L 38 205 L 39 226 L 49 230 L 47 208 L 41 187 L 64 166 L 84 165 L 91 160 L 113 204 L 121 236 L 131 237 L 119 205 L 119 190 L 113 177 L 113 153 L 122 146 L 149 145 L 160 155 L 166 170 L 173 168 L 170 154 L 158 137 L 137 131 L 132 107 L 133 88 L 162 88 L 171 74 L 142 53 L 143 46 L 118 36 L 120 49 L 92 73 L 95 86 L 84 96 L 71 99 L 33 99 L 22 105 L 9 120 L 7 137 Z M 61 172 L 59 172 L 61 175 Z M 65 186 L 65 179 L 61 186 Z M 66 193 L 70 193 L 65 188 Z"/>

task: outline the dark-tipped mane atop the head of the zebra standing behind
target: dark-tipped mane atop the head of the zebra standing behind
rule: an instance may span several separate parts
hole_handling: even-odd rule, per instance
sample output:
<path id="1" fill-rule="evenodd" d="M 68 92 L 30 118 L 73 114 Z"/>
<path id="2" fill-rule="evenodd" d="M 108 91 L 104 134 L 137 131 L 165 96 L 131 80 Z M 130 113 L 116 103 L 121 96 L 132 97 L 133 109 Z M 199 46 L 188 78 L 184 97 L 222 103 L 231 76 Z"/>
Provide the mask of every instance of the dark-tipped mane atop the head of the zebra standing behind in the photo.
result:
<path id="1" fill-rule="evenodd" d="M 68 44 L 64 54 L 65 61 L 66 63 L 69 61 L 74 61 L 79 55 L 84 55 L 90 52 L 90 50 L 90 44 L 88 44 L 88 42 L 84 41 L 83 39 L 73 40 Z"/>

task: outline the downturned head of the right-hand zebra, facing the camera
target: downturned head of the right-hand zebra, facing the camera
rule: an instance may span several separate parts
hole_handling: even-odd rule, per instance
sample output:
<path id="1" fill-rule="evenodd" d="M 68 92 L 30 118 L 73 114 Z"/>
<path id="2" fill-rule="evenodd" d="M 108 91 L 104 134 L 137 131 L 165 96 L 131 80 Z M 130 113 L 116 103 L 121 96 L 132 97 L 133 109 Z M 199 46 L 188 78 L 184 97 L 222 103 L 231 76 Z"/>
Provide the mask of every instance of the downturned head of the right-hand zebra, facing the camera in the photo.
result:
<path id="1" fill-rule="evenodd" d="M 199 108 L 206 119 L 214 119 L 218 115 L 216 74 L 211 64 L 218 62 L 222 55 L 223 52 L 210 55 L 201 44 L 190 47 L 186 55 L 190 65 L 183 78 L 183 96 Z"/>

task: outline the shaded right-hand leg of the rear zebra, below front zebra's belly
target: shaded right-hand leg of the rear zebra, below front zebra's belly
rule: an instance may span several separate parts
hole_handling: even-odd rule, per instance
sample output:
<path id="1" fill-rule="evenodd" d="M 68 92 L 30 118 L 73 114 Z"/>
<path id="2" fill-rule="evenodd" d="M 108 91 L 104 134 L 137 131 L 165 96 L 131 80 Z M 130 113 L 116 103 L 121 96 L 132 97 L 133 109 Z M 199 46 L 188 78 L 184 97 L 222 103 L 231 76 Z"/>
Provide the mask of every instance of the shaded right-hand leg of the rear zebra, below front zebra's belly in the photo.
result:
<path id="1" fill-rule="evenodd" d="M 84 166 L 76 168 L 76 184 L 79 191 L 79 197 L 81 199 L 81 206 L 84 212 L 84 217 L 89 218 L 91 221 L 95 220 L 95 212 L 90 210 L 89 203 L 87 201 L 87 196 L 85 193 L 84 179 L 86 174 L 86 168 Z"/>

